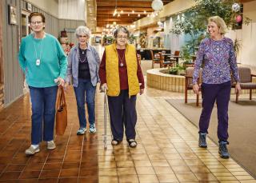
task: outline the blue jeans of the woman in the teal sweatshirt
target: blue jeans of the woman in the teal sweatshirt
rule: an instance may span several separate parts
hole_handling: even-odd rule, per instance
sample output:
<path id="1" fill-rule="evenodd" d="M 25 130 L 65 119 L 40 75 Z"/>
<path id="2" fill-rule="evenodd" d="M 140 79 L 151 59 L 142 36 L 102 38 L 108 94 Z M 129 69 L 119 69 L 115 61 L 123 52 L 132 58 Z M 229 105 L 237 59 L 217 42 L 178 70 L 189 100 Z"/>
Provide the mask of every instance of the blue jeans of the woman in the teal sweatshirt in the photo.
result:
<path id="1" fill-rule="evenodd" d="M 58 86 L 46 88 L 29 87 L 32 103 L 31 144 L 38 145 L 42 141 L 42 134 L 43 141 L 52 141 L 54 139 L 55 103 Z"/>

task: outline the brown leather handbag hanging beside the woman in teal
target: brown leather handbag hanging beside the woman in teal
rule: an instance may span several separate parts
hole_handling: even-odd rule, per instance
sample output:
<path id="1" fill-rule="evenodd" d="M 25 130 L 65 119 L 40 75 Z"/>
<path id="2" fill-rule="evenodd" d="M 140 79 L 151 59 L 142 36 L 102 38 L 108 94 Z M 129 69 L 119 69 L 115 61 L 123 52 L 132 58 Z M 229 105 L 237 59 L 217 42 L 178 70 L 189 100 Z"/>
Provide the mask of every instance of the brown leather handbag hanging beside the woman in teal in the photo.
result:
<path id="1" fill-rule="evenodd" d="M 58 101 L 56 109 L 56 134 L 63 135 L 67 125 L 66 99 L 62 86 L 58 88 Z"/>

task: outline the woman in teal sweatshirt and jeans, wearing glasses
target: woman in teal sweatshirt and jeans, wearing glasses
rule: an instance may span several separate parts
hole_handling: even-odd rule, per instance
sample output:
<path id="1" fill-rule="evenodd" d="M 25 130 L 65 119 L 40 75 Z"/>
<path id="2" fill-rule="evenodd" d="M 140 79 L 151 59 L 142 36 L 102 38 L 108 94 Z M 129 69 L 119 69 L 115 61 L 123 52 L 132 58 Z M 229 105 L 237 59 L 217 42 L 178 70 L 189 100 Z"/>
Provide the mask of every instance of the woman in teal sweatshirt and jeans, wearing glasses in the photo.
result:
<path id="1" fill-rule="evenodd" d="M 50 34 L 46 34 L 45 16 L 34 12 L 29 16 L 32 34 L 22 38 L 18 54 L 19 64 L 26 75 L 32 103 L 31 145 L 27 155 L 38 153 L 39 143 L 47 143 L 47 149 L 55 149 L 54 117 L 58 86 L 64 86 L 67 60 L 62 46 Z"/>

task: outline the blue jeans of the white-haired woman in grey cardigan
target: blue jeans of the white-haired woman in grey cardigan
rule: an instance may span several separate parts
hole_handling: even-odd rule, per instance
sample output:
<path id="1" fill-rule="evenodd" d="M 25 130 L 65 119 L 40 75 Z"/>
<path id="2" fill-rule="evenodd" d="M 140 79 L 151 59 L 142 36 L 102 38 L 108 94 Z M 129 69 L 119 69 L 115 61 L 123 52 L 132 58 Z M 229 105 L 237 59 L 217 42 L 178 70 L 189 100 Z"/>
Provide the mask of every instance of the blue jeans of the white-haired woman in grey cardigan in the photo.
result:
<path id="1" fill-rule="evenodd" d="M 74 93 L 77 99 L 80 128 L 86 128 L 85 101 L 88 109 L 89 123 L 93 125 L 95 122 L 95 90 L 96 86 L 93 86 L 89 79 L 78 78 L 78 87 L 74 87 Z"/>

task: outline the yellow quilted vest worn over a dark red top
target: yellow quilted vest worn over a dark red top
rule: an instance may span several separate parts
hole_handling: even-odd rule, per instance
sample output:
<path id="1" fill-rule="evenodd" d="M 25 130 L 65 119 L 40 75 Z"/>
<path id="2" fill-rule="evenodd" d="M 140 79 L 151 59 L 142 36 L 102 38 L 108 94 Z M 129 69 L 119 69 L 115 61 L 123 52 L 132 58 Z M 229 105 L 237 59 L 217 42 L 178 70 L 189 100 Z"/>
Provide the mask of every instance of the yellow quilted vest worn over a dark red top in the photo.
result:
<path id="1" fill-rule="evenodd" d="M 106 84 L 108 87 L 107 95 L 114 97 L 120 93 L 120 79 L 118 69 L 118 52 L 116 44 L 105 47 L 106 50 Z M 139 83 L 137 77 L 138 62 L 136 50 L 133 45 L 126 44 L 126 67 L 128 75 L 129 95 L 139 93 Z"/>

